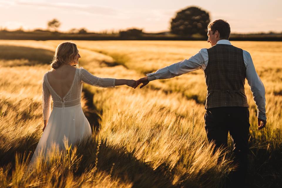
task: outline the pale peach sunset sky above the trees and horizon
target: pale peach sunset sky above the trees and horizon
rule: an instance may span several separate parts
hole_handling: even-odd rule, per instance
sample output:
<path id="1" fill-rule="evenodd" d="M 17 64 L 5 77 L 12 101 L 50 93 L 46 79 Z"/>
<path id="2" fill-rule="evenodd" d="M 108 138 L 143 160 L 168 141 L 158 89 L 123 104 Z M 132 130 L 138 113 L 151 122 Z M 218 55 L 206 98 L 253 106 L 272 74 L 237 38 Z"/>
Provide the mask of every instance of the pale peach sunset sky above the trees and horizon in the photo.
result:
<path id="1" fill-rule="evenodd" d="M 231 33 L 282 32 L 281 0 L 0 0 L 0 27 L 47 29 L 47 22 L 56 18 L 60 31 L 161 32 L 169 31 L 176 12 L 188 6 L 208 11 L 211 21 L 227 20 Z"/>

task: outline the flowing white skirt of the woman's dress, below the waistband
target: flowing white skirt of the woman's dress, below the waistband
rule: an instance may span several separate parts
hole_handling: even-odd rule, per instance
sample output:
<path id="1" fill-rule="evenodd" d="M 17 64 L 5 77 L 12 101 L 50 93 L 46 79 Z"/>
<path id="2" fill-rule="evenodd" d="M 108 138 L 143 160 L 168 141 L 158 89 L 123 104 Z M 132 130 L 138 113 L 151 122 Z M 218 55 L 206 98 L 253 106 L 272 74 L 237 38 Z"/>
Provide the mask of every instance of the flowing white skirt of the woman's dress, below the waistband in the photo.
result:
<path id="1" fill-rule="evenodd" d="M 28 166 L 31 166 L 37 155 L 46 156 L 47 150 L 54 143 L 59 149 L 64 149 L 64 140 L 67 139 L 68 146 L 70 144 L 73 146 L 75 142 L 91 135 L 91 127 L 82 111 L 81 104 L 64 108 L 53 106 L 48 123 Z"/>

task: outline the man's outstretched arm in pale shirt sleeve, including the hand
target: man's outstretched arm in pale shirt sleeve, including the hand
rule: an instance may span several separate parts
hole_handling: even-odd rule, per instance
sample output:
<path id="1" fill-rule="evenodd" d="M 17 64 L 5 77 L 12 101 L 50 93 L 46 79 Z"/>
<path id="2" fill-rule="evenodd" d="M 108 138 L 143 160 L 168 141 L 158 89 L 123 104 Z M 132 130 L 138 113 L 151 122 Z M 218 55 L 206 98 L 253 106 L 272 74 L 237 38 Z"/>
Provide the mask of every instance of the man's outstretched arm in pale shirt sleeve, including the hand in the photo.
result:
<path id="1" fill-rule="evenodd" d="M 143 83 L 140 88 L 147 85 L 150 81 L 156 79 L 166 79 L 166 78 L 173 78 L 175 76 L 182 75 L 184 73 L 189 73 L 193 70 L 206 68 L 208 61 L 208 52 L 207 48 L 202 48 L 198 53 L 192 56 L 189 59 L 184 59 L 178 63 L 174 63 L 170 66 L 166 66 L 157 70 L 155 73 L 146 74 L 147 76 L 144 78 L 140 78 L 136 81 L 135 88 Z"/>

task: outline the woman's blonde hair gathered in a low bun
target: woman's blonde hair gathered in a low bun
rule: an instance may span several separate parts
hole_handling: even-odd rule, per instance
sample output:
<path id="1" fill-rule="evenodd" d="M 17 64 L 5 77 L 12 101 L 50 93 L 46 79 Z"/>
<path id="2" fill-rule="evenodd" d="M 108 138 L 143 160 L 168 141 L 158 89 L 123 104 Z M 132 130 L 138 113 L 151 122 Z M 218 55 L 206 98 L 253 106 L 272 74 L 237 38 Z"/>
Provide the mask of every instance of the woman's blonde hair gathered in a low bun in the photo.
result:
<path id="1" fill-rule="evenodd" d="M 63 64 L 68 64 L 69 62 L 75 61 L 74 58 L 78 54 L 77 51 L 77 46 L 73 42 L 60 43 L 56 48 L 50 66 L 53 69 L 57 69 Z M 76 65 L 76 67 L 78 67 L 78 65 Z"/>

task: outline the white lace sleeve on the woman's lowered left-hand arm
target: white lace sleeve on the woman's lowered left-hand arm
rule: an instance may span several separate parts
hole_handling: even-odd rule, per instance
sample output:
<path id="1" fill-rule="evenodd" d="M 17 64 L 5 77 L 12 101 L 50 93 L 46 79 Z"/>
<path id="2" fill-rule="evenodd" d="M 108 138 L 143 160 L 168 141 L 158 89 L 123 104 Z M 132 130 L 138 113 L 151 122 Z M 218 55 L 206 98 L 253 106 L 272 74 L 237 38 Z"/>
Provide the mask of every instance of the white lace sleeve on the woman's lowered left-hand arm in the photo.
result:
<path id="1" fill-rule="evenodd" d="M 51 93 L 47 88 L 46 79 L 44 75 L 42 80 L 42 109 L 44 120 L 48 120 L 51 114 Z"/>

